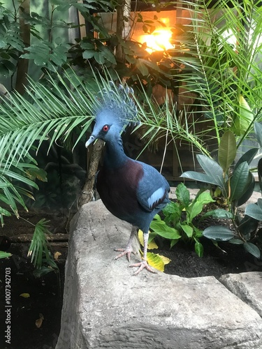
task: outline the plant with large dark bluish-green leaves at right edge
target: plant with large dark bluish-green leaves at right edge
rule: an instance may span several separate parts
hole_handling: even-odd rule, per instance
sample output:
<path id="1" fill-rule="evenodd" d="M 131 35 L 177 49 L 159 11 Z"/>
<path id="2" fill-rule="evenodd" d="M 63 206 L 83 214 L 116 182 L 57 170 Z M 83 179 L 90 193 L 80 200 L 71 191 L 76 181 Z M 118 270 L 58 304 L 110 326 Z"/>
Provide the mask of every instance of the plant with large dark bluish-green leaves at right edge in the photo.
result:
<path id="1" fill-rule="evenodd" d="M 260 126 L 256 124 L 256 131 L 258 128 L 260 130 Z M 217 211 L 210 211 L 208 214 L 215 218 L 229 219 L 235 227 L 233 232 L 225 226 L 210 226 L 203 231 L 203 236 L 217 242 L 229 241 L 233 244 L 242 244 L 249 253 L 259 258 L 259 248 L 253 243 L 256 241 L 258 221 L 250 216 L 254 207 L 247 209 L 244 217 L 238 212 L 238 207 L 247 202 L 254 191 L 254 176 L 249 170 L 249 163 L 257 151 L 257 148 L 249 149 L 234 164 L 237 152 L 235 136 L 231 131 L 227 131 L 219 144 L 218 162 L 198 154 L 197 159 L 204 173 L 187 171 L 182 174 L 182 177 L 208 184 L 205 186 L 206 189 L 218 187 L 224 198 L 226 210 L 219 211 L 219 216 Z"/>

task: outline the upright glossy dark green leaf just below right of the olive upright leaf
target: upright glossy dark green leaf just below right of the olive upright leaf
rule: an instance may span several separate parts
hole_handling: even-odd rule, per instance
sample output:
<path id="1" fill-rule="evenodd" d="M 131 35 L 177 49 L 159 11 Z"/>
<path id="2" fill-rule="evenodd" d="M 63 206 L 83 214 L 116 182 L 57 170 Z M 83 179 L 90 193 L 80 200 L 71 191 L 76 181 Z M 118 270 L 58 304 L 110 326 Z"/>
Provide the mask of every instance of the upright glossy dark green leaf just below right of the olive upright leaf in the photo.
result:
<path id="1" fill-rule="evenodd" d="M 247 161 L 240 163 L 234 170 L 233 176 L 231 177 L 231 200 L 238 200 L 244 195 L 249 186 L 249 165 Z"/>

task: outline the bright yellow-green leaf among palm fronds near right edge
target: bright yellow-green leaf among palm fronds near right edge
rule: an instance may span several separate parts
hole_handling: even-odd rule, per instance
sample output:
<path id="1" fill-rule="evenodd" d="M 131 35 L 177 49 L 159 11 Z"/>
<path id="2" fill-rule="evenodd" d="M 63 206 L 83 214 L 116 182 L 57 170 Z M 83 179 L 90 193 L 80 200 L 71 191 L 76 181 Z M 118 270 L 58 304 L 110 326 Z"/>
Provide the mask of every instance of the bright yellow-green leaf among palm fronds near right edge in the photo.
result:
<path id="1" fill-rule="evenodd" d="M 241 136 L 245 135 L 245 132 L 249 128 L 250 124 L 252 124 L 254 120 L 254 114 L 245 98 L 241 95 L 239 100 L 239 106 L 240 113 L 236 114 L 235 119 L 235 134 Z"/>

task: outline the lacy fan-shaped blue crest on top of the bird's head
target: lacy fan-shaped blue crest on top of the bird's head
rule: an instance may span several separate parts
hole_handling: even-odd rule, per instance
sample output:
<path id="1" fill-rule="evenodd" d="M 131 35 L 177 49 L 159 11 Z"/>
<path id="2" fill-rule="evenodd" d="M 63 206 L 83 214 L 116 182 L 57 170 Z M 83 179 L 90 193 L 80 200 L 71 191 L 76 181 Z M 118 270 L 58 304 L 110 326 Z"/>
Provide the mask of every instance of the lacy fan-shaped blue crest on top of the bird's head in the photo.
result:
<path id="1" fill-rule="evenodd" d="M 138 110 L 133 101 L 133 89 L 117 86 L 112 81 L 99 92 L 99 107 L 96 110 L 96 122 L 111 122 L 124 128 L 129 124 L 138 124 Z"/>

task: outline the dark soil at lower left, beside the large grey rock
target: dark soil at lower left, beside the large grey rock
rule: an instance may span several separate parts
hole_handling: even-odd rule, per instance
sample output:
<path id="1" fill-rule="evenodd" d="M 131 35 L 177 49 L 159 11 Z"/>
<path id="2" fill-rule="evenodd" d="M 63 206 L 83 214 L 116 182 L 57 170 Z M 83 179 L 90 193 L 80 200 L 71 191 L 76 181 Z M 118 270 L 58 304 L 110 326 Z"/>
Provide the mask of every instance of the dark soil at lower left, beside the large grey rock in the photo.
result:
<path id="1" fill-rule="evenodd" d="M 2 235 L 13 239 L 16 235 L 32 234 L 34 226 L 27 221 L 37 223 L 43 216 L 24 216 L 25 220 L 15 217 L 4 219 Z M 66 220 L 59 216 L 45 216 L 50 219 L 50 230 L 59 233 L 66 232 Z M 1 228 L 0 228 L 1 229 Z M 40 278 L 33 275 L 34 266 L 27 258 L 29 242 L 16 242 L 10 245 L 10 258 L 0 259 L 0 348 L 2 349 L 51 349 L 55 347 L 60 331 L 61 307 L 64 288 L 64 265 L 67 255 L 67 242 L 50 243 L 52 252 L 59 251 L 57 265 L 59 273 L 50 272 Z M 0 248 L 0 250 L 3 248 Z M 10 268 L 10 313 L 11 340 L 6 343 L 7 329 L 5 312 L 6 268 Z M 7 269 L 8 270 L 8 269 Z M 28 293 L 29 297 L 22 297 Z M 43 315 L 40 327 L 36 321 Z"/>

